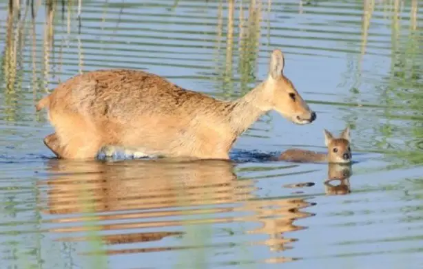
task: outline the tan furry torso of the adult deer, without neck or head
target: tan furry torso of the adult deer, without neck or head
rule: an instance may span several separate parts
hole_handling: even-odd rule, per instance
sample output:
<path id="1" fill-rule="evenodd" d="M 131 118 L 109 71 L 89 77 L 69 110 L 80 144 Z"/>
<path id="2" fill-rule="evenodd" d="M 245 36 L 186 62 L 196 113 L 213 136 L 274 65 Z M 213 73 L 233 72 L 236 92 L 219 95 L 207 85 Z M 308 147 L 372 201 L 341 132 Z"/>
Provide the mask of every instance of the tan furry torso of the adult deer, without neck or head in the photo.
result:
<path id="1" fill-rule="evenodd" d="M 50 103 L 50 120 L 57 136 L 70 137 L 69 129 L 74 126 L 72 138 L 92 144 L 95 151 L 115 146 L 146 155 L 194 153 L 198 158 L 211 158 L 207 153 L 212 152 L 218 158 L 227 158 L 225 154 L 236 136 L 225 117 L 234 105 L 180 89 L 152 74 L 132 70 L 91 72 L 71 78 L 61 89 L 50 96 L 54 100 Z M 209 109 L 196 110 L 196 106 Z"/>

